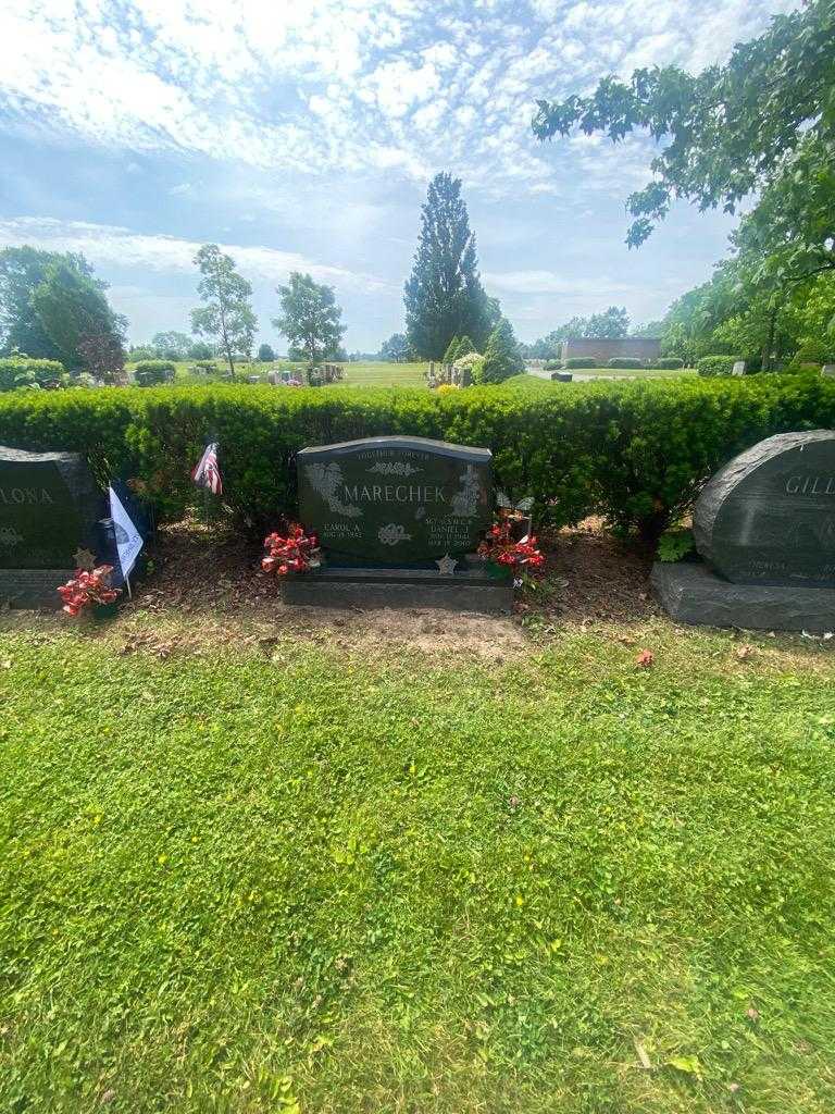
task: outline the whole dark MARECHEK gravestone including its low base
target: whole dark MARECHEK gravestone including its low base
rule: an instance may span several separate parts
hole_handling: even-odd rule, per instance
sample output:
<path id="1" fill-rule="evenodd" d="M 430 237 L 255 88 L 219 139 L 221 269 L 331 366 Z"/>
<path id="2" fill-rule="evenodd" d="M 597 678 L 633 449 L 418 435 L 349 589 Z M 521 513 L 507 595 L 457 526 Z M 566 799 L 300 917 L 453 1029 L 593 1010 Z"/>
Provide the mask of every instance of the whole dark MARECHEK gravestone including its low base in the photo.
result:
<path id="1" fill-rule="evenodd" d="M 372 437 L 303 449 L 297 469 L 325 560 L 283 582 L 287 603 L 510 610 L 512 578 L 473 558 L 493 517 L 488 449 Z"/>

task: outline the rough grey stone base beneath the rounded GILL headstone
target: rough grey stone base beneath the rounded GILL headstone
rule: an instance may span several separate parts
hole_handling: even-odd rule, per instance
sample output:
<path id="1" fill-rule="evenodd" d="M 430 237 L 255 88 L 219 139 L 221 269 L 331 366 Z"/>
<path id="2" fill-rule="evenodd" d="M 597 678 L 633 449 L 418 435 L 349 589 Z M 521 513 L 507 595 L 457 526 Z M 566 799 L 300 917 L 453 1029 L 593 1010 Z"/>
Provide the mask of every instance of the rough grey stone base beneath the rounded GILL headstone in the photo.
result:
<path id="1" fill-rule="evenodd" d="M 656 561 L 650 578 L 677 623 L 748 631 L 835 631 L 835 588 L 731 584 L 707 565 Z"/>

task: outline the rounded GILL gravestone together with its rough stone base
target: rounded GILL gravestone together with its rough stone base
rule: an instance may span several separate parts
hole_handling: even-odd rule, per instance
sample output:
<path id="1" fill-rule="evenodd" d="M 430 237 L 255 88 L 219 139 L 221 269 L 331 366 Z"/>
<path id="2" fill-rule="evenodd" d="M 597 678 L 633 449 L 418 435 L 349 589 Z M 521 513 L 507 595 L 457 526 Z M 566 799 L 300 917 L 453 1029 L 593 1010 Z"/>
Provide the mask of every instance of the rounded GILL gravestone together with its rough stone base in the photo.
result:
<path id="1" fill-rule="evenodd" d="M 692 518 L 706 564 L 657 564 L 652 583 L 687 623 L 835 628 L 835 432 L 779 433 L 721 468 Z"/>

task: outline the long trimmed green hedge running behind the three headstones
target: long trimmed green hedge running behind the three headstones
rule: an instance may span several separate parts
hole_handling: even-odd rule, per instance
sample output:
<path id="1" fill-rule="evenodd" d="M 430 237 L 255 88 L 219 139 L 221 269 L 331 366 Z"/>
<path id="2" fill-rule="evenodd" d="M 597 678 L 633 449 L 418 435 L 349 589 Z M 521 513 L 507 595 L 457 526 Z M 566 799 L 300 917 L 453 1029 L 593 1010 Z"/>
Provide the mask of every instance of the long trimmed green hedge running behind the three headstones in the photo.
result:
<path id="1" fill-rule="evenodd" d="M 724 461 L 772 433 L 835 426 L 822 377 L 418 390 L 124 388 L 7 394 L 0 443 L 86 452 L 100 478 L 136 479 L 164 517 L 195 502 L 189 469 L 220 446 L 224 501 L 262 530 L 295 508 L 295 453 L 384 433 L 493 451 L 497 486 L 533 496 L 540 525 L 600 514 L 651 536 Z"/>

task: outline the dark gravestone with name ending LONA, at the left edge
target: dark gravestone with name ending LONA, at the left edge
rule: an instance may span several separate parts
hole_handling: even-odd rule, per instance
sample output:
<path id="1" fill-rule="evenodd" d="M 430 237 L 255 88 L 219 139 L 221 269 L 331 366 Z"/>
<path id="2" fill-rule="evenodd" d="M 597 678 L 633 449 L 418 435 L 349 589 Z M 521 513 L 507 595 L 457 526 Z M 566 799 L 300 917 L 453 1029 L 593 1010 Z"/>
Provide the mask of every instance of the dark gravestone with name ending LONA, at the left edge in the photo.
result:
<path id="1" fill-rule="evenodd" d="M 79 549 L 96 553 L 105 499 L 75 452 L 0 447 L 0 600 L 60 606 Z"/>

